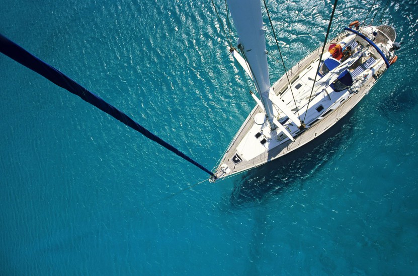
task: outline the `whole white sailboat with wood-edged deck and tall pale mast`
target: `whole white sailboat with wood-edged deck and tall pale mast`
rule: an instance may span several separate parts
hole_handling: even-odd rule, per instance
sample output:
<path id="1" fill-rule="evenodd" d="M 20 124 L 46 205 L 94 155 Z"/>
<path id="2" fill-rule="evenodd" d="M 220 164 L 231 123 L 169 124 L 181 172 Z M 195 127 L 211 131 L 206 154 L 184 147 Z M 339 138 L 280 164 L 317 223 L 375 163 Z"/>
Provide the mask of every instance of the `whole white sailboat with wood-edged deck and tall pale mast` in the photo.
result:
<path id="1" fill-rule="evenodd" d="M 254 81 L 258 97 L 252 93 L 256 106 L 215 167 L 212 182 L 284 158 L 317 139 L 397 60 L 393 27 L 355 21 L 271 85 L 261 2 L 227 4 L 239 37 L 230 52 Z"/>

